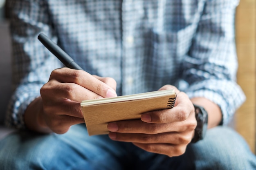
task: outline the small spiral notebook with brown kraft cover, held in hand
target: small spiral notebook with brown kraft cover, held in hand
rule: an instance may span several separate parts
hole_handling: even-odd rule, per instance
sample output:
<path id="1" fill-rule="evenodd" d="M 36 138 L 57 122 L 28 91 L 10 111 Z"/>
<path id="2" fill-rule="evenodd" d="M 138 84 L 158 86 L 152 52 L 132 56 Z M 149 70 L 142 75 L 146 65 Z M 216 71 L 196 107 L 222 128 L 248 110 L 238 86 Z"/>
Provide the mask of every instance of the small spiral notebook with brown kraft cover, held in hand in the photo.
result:
<path id="1" fill-rule="evenodd" d="M 111 121 L 140 119 L 141 113 L 173 108 L 174 90 L 153 91 L 112 98 L 85 100 L 81 108 L 89 135 L 107 134 Z"/>

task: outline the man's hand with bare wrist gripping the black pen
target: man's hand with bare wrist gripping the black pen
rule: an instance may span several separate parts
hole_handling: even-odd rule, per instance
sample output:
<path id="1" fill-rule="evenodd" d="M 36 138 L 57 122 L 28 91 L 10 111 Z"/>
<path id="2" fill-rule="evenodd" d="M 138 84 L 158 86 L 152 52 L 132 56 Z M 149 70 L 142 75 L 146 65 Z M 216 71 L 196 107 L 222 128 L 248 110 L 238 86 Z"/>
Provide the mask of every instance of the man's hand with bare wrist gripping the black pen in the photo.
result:
<path id="1" fill-rule="evenodd" d="M 31 130 L 65 133 L 70 126 L 84 123 L 82 100 L 116 97 L 115 89 L 112 78 L 70 68 L 56 69 L 41 88 L 41 97 L 28 106 L 25 124 Z"/>

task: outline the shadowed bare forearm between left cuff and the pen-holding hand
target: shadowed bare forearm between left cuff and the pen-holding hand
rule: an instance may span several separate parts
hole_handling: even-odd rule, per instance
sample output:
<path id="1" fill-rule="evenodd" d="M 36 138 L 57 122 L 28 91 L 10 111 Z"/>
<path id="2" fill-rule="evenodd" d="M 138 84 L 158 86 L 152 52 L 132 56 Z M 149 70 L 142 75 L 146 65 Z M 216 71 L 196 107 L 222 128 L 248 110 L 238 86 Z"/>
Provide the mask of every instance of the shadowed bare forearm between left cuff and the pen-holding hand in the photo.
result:
<path id="1" fill-rule="evenodd" d="M 43 112 L 43 102 L 42 98 L 36 98 L 29 106 L 24 114 L 25 126 L 32 131 L 49 133 L 52 132 L 46 124 L 42 117 Z"/>

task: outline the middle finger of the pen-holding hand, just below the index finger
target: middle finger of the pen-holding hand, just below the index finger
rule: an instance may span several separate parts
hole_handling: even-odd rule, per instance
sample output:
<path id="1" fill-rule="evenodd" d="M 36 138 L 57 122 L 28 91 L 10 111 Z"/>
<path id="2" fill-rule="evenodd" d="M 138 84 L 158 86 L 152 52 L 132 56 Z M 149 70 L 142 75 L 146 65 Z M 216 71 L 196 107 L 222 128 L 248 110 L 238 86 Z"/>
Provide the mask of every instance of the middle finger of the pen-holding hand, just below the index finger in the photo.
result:
<path id="1" fill-rule="evenodd" d="M 89 99 L 101 99 L 100 95 L 93 93 L 92 91 L 75 83 L 59 83 L 56 80 L 51 80 L 40 89 L 41 96 L 43 98 L 48 97 L 52 99 L 55 97 L 58 100 L 63 98 L 70 99 L 72 101 L 81 102 Z M 47 101 L 47 100 L 46 100 Z M 52 100 L 48 100 L 51 102 Z"/>

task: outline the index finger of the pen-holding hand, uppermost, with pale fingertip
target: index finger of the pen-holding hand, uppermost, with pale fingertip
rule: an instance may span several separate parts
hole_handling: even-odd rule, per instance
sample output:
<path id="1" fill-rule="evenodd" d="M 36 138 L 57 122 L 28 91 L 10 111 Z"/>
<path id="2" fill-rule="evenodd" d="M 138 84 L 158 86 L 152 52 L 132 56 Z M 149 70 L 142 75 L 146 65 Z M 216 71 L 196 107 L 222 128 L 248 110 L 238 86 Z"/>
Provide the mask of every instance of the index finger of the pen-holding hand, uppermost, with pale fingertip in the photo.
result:
<path id="1" fill-rule="evenodd" d="M 59 68 L 52 71 L 50 79 L 56 79 L 58 82 L 63 83 L 79 84 L 104 98 L 117 97 L 116 92 L 110 86 L 82 70 L 74 70 L 65 67 Z"/>

